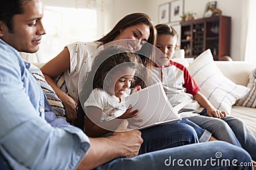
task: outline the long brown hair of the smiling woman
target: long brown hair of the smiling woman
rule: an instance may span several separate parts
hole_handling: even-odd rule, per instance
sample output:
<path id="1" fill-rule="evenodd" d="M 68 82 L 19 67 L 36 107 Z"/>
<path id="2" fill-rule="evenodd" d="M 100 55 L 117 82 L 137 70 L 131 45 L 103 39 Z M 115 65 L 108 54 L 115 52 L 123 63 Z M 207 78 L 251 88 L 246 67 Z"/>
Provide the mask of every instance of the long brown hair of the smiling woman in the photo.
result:
<path id="1" fill-rule="evenodd" d="M 148 25 L 150 29 L 150 35 L 148 37 L 147 42 L 154 45 L 156 41 L 156 31 L 154 29 L 154 25 L 152 24 L 151 18 L 145 13 L 131 13 L 129 15 L 126 15 L 124 18 L 122 18 L 119 22 L 116 23 L 113 29 L 110 32 L 108 32 L 106 36 L 100 38 L 97 41 L 99 41 L 103 45 L 109 43 L 113 41 L 113 39 L 115 39 L 116 36 L 118 36 L 121 29 L 125 29 L 127 27 L 131 27 L 137 24 Z"/>

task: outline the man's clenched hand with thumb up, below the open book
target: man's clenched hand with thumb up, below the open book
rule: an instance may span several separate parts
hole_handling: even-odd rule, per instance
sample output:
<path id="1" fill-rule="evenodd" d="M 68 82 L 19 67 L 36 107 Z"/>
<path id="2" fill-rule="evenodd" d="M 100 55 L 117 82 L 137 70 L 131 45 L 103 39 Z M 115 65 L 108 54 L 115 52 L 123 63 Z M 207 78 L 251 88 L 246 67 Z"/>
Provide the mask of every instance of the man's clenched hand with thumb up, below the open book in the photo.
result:
<path id="1" fill-rule="evenodd" d="M 121 157 L 129 158 L 138 155 L 141 143 L 143 139 L 141 138 L 141 132 L 138 130 L 131 130 L 127 128 L 128 121 L 124 120 L 113 132 L 111 138 L 115 138 L 116 150 L 118 150 L 118 155 Z"/>

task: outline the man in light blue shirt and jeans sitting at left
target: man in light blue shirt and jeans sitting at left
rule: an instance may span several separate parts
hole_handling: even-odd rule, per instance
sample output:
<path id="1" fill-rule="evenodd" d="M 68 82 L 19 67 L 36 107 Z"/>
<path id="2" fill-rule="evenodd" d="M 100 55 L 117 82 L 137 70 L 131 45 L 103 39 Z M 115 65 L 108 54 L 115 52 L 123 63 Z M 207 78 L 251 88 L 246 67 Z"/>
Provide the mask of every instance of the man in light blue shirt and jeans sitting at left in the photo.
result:
<path id="1" fill-rule="evenodd" d="M 18 53 L 38 50 L 45 34 L 42 17 L 40 0 L 0 1 L 1 169 L 184 169 L 193 166 L 186 161 L 198 159 L 204 166 L 193 169 L 252 169 L 239 166 L 251 162 L 247 152 L 221 141 L 138 155 L 143 140 L 140 131 L 125 131 L 127 121 L 118 127 L 123 132 L 109 138 L 88 138 L 56 117 L 56 124 L 49 124 L 45 115 L 51 114 L 51 108 L 28 71 L 29 63 Z M 212 159 L 227 159 L 230 164 L 216 164 Z"/>

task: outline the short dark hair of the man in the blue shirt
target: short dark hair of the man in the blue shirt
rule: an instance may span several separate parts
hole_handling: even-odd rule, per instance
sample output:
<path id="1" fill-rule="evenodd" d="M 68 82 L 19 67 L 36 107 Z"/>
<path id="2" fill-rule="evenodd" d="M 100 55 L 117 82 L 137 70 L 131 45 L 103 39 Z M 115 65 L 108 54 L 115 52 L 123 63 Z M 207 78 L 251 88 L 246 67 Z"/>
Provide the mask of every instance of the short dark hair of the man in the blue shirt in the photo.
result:
<path id="1" fill-rule="evenodd" d="M 13 16 L 24 13 L 23 1 L 27 0 L 1 0 L 0 20 L 4 22 L 9 32 L 13 32 Z"/>

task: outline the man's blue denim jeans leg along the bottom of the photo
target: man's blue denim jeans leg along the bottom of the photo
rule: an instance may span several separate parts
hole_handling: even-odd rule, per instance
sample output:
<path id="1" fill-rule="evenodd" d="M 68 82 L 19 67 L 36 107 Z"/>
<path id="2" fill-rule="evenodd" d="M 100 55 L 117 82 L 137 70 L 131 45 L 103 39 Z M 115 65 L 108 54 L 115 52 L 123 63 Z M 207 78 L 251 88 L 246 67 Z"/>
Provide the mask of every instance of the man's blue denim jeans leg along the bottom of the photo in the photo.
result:
<path id="1" fill-rule="evenodd" d="M 235 159 L 238 161 L 236 162 Z M 190 160 L 191 165 L 189 165 Z M 227 160 L 227 163 L 221 160 Z M 235 160 L 236 163 L 232 164 L 232 160 Z M 96 169 L 253 169 L 252 166 L 241 166 L 251 160 L 252 158 L 243 148 L 223 141 L 211 141 L 168 148 L 132 158 L 118 158 Z M 200 161 L 202 161 L 202 166 Z M 230 166 L 228 166 L 228 161 Z M 193 162 L 195 162 L 195 166 L 193 166 Z"/>

